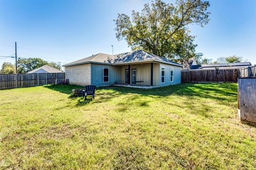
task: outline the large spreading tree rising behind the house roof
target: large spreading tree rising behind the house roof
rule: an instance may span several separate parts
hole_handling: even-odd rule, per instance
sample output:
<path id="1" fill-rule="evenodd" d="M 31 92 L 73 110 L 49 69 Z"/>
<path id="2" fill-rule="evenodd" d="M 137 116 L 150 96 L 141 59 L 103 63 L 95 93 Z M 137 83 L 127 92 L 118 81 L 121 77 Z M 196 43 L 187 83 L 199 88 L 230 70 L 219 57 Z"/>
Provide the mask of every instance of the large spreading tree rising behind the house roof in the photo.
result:
<path id="1" fill-rule="evenodd" d="M 195 37 L 190 35 L 188 25 L 207 24 L 209 6 L 203 0 L 177 0 L 175 6 L 161 0 L 145 4 L 141 13 L 132 11 L 131 19 L 118 14 L 114 20 L 116 38 L 124 38 L 132 50 L 143 49 L 176 62 L 188 62 L 197 55 Z"/>

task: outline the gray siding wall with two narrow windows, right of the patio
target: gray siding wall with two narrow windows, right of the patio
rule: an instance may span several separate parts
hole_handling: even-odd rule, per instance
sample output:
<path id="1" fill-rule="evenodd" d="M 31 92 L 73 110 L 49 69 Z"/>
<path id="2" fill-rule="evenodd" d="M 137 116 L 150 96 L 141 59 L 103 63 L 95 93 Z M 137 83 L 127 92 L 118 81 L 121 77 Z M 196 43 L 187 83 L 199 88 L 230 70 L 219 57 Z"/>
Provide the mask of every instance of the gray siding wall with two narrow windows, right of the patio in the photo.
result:
<path id="1" fill-rule="evenodd" d="M 165 67 L 165 82 L 161 83 L 161 68 Z M 173 82 L 171 82 L 171 68 L 173 68 Z M 170 65 L 170 64 L 160 64 L 159 67 L 159 77 L 160 86 L 168 86 L 173 84 L 181 83 L 181 67 Z"/>

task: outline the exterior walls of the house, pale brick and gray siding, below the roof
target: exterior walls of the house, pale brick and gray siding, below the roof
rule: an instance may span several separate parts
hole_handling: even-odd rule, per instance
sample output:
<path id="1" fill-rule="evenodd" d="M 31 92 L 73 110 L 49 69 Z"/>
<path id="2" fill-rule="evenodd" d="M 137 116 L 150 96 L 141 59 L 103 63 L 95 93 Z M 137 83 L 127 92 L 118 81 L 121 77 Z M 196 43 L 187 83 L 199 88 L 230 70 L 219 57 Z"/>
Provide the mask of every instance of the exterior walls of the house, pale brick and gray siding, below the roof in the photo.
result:
<path id="1" fill-rule="evenodd" d="M 143 81 L 140 83 L 138 82 L 137 84 L 150 85 L 150 67 L 150 63 L 144 63 L 142 65 L 131 64 L 131 70 L 137 69 L 137 81 Z M 162 67 L 165 67 L 164 83 L 161 83 Z M 103 68 L 109 69 L 109 82 L 103 82 Z M 171 68 L 173 68 L 173 82 L 170 81 Z M 89 84 L 96 86 L 109 86 L 115 83 L 125 83 L 125 69 L 128 69 L 128 65 L 113 66 L 105 64 L 82 64 L 65 67 L 66 78 L 69 79 L 70 84 L 77 84 L 81 86 Z M 153 86 L 168 86 L 179 83 L 181 83 L 181 67 L 170 64 L 154 63 Z"/>

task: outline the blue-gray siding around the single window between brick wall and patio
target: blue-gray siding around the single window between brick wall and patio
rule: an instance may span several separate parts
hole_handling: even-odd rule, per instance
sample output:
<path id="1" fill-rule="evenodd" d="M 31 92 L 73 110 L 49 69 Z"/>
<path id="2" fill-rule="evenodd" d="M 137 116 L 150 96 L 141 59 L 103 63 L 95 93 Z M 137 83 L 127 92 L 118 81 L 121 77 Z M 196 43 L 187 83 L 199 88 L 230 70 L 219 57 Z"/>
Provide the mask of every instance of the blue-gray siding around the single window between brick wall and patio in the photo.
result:
<path id="1" fill-rule="evenodd" d="M 104 64 L 92 64 L 92 84 L 96 86 L 109 86 L 121 83 L 121 67 Z M 103 68 L 109 68 L 109 82 L 103 82 Z"/>

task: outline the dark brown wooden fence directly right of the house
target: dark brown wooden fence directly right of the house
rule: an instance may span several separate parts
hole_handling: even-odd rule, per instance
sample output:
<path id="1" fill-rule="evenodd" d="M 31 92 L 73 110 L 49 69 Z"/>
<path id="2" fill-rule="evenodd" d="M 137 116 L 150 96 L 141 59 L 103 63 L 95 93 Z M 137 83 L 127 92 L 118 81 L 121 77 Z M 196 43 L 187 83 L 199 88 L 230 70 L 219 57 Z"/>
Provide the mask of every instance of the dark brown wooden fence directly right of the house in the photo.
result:
<path id="1" fill-rule="evenodd" d="M 182 82 L 237 82 L 239 69 L 182 70 Z"/>

